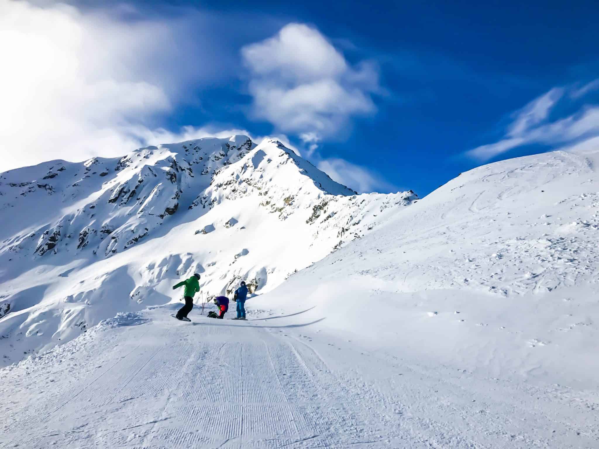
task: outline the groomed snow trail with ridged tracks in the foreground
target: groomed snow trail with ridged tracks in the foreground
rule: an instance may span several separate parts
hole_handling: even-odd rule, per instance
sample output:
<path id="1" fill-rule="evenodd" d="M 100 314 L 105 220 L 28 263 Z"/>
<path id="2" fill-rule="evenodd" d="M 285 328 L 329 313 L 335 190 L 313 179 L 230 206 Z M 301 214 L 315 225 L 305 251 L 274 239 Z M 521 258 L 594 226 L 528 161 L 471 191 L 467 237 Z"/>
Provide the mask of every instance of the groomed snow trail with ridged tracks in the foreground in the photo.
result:
<path id="1" fill-rule="evenodd" d="M 178 306 L 2 369 L 0 446 L 597 447 L 594 404 L 571 390 L 389 358 L 313 310 L 181 323 Z"/>

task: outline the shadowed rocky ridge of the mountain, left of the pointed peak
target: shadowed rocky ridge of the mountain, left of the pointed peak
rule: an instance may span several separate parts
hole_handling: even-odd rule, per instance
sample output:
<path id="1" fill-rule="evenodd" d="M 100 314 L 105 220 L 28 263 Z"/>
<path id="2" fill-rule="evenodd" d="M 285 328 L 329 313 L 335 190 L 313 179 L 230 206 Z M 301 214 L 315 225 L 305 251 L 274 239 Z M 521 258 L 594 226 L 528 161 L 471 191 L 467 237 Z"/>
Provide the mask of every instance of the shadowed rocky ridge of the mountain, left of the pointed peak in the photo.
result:
<path id="1" fill-rule="evenodd" d="M 121 159 L 52 161 L 2 174 L 2 213 L 10 223 L 0 231 L 0 251 L 43 256 L 93 247 L 108 256 L 125 250 L 176 213 L 182 195 L 205 189 L 253 147 L 247 136 L 198 139 L 140 148 Z"/>

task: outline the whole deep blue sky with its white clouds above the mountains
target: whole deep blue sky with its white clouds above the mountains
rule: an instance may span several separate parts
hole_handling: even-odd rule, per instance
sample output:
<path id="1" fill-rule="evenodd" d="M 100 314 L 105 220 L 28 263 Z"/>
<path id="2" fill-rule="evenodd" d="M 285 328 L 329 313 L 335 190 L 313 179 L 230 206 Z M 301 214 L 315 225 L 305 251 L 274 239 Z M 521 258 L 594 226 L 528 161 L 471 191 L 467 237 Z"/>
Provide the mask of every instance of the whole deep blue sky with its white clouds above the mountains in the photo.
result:
<path id="1" fill-rule="evenodd" d="M 0 25 L 24 45 L 13 48 L 11 66 L 24 70 L 22 54 L 40 52 L 37 77 L 0 75 L 16 86 L 9 101 L 26 119 L 14 108 L 0 117 L 13 122 L 0 132 L 10 142 L 2 152 L 45 145 L 52 156 L 81 160 L 244 130 L 281 136 L 354 189 L 423 196 L 482 163 L 599 144 L 597 2 L 0 8 Z M 29 42 L 31 23 L 43 41 Z M 35 157 L 13 156 L 5 168 Z"/>

